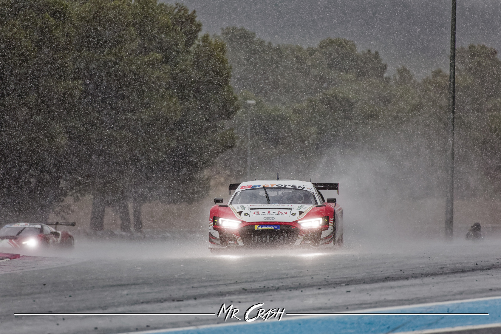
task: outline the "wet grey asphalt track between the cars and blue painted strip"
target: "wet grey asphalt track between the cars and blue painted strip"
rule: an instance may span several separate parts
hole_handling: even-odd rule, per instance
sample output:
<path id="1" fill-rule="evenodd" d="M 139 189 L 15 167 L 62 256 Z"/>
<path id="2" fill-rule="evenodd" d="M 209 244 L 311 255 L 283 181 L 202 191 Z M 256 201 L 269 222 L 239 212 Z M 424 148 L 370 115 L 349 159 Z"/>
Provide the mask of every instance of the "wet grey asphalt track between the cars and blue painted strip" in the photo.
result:
<path id="1" fill-rule="evenodd" d="M 215 316 L 13 313 L 213 313 L 223 302 L 241 310 L 264 302 L 287 312 L 337 312 L 501 295 L 501 242 L 494 239 L 231 255 L 211 255 L 205 247 L 190 240 L 80 241 L 61 262 L 36 259 L 19 270 L 16 260 L 0 262 L 0 331 L 118 333 L 222 322 Z"/>

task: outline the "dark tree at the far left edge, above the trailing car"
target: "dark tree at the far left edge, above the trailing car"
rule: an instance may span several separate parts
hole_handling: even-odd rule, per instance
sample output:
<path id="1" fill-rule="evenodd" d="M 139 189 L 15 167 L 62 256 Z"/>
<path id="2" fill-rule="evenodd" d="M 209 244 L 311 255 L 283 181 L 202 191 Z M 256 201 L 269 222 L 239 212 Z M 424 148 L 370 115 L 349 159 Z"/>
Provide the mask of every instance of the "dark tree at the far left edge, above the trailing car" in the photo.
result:
<path id="1" fill-rule="evenodd" d="M 0 1 L 0 211 L 46 221 L 71 190 L 65 119 L 76 104 L 71 6 Z"/>

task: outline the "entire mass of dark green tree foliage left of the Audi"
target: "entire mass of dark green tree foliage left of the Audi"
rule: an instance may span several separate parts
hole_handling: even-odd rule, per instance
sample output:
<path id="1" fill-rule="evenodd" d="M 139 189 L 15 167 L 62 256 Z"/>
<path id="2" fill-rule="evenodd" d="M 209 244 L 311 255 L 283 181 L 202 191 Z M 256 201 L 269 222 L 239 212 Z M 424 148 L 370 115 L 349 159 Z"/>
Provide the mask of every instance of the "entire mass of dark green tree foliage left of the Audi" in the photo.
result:
<path id="1" fill-rule="evenodd" d="M 0 19 L 4 216 L 45 219 L 67 195 L 94 195 L 98 220 L 132 198 L 203 195 L 204 169 L 235 141 L 223 121 L 237 103 L 225 46 L 198 38 L 194 12 L 2 0 Z"/>

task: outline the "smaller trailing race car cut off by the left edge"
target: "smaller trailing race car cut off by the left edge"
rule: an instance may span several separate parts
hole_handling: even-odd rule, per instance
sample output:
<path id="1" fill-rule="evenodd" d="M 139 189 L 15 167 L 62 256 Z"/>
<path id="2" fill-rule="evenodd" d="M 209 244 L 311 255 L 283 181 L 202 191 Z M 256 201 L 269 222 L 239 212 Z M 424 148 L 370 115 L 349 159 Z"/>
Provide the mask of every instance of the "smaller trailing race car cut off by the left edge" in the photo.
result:
<path id="1" fill-rule="evenodd" d="M 41 249 L 48 247 L 74 247 L 73 236 L 49 225 L 75 226 L 75 223 L 16 223 L 0 229 L 0 247 L 17 249 Z"/>

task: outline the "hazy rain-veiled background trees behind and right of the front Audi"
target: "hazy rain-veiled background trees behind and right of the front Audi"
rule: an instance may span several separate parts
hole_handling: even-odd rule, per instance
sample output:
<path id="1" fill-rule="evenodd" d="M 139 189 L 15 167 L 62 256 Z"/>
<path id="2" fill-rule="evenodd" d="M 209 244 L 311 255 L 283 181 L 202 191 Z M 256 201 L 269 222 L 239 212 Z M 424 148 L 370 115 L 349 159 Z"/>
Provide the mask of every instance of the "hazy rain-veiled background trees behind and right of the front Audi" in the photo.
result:
<path id="1" fill-rule="evenodd" d="M 287 177 L 308 179 L 323 157 L 371 152 L 392 166 L 395 174 L 381 180 L 392 180 L 393 189 L 414 197 L 443 193 L 447 73 L 438 69 L 418 81 L 401 67 L 385 77 L 377 52 L 358 53 L 340 38 L 307 49 L 274 46 L 243 28 L 223 29 L 221 38 L 243 106 L 230 123 L 239 140 L 221 168 L 246 174 L 248 124 L 251 178 L 273 177 L 279 155 Z M 483 45 L 458 48 L 456 76 L 457 195 L 479 195 L 491 185 L 499 191 L 497 52 Z M 247 105 L 248 99 L 257 104 Z"/>

